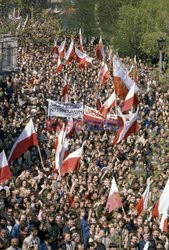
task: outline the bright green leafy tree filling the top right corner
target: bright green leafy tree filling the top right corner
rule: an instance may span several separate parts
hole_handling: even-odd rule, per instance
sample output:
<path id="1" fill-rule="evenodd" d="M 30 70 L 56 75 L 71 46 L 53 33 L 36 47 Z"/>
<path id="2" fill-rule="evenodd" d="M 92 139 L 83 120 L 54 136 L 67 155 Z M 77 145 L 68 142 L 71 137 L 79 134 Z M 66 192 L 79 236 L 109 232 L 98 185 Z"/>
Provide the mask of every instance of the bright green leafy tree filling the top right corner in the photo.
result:
<path id="1" fill-rule="evenodd" d="M 123 5 L 117 21 L 115 47 L 122 55 L 157 54 L 157 38 L 169 35 L 168 14 L 168 0 L 142 0 L 136 7 Z"/>

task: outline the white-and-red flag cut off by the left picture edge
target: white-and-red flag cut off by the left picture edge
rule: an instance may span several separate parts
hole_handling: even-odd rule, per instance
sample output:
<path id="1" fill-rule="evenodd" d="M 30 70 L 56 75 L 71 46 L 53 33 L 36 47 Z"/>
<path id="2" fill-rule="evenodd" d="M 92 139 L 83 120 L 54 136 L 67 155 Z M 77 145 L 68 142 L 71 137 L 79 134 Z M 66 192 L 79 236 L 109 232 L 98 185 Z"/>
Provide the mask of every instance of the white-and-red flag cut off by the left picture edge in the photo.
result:
<path id="1" fill-rule="evenodd" d="M 0 153 L 0 183 L 11 179 L 12 174 L 4 150 Z"/>

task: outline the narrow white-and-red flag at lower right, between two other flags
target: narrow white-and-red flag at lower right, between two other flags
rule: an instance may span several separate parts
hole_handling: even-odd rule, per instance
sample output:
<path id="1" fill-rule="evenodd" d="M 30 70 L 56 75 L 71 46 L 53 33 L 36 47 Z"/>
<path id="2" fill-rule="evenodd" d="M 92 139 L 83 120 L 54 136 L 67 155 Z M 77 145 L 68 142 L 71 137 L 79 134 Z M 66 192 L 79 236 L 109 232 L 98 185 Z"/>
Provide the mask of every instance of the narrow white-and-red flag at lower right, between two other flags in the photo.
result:
<path id="1" fill-rule="evenodd" d="M 141 199 L 138 201 L 136 205 L 136 210 L 138 212 L 138 215 L 142 214 L 144 210 L 148 207 L 148 199 L 149 199 L 149 193 L 150 193 L 150 185 L 148 184 Z"/>

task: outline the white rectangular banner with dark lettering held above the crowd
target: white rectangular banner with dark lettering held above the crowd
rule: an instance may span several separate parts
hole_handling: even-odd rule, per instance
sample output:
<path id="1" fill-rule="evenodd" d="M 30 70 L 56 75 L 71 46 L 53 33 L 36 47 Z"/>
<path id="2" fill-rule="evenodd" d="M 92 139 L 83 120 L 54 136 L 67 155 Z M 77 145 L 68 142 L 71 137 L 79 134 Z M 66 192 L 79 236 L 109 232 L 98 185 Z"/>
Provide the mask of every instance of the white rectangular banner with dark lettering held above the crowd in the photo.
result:
<path id="1" fill-rule="evenodd" d="M 48 116 L 59 116 L 67 118 L 83 117 L 84 108 L 81 103 L 64 103 L 58 101 L 48 101 Z"/>

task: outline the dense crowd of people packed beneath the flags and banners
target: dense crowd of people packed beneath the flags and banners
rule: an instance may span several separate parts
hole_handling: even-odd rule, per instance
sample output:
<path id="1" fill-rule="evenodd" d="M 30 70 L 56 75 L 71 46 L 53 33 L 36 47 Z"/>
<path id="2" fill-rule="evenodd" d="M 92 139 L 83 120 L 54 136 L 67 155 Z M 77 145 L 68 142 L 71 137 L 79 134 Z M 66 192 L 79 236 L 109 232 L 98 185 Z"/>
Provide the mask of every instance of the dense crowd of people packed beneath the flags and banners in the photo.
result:
<path id="1" fill-rule="evenodd" d="M 45 166 L 41 166 L 36 147 L 10 166 L 13 178 L 0 190 L 0 249 L 142 250 L 147 241 L 149 250 L 169 249 L 168 234 L 160 231 L 159 218 L 151 218 L 169 176 L 169 91 L 153 79 L 153 68 L 141 61 L 137 65 L 141 93 L 138 133 L 113 145 L 114 131 L 89 131 L 84 125 L 69 138 L 70 151 L 85 141 L 79 171 L 61 178 L 52 172 L 57 135 L 45 127 L 47 99 L 59 99 L 64 74 L 71 77 L 71 102 L 95 108 L 96 89 L 102 102 L 114 89 L 111 78 L 104 87 L 99 85 L 95 46 L 86 44 L 85 50 L 95 58 L 92 66 L 81 70 L 73 61 L 57 74 L 52 53 L 43 47 L 29 47 L 28 39 L 27 46 L 19 49 L 21 71 L 0 82 L 0 151 L 9 155 L 23 127 L 33 118 Z M 130 68 L 131 60 L 123 62 Z M 112 175 L 124 211 L 109 214 L 106 201 Z M 135 205 L 150 177 L 149 208 L 138 216 Z"/>

